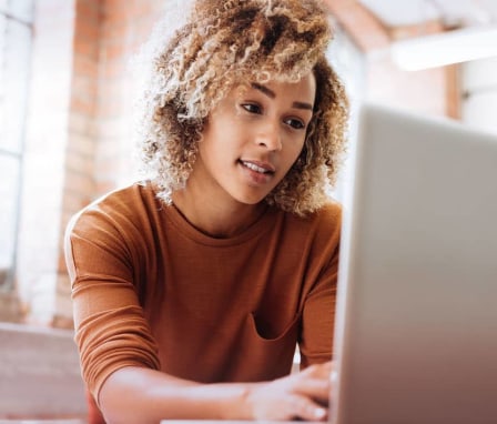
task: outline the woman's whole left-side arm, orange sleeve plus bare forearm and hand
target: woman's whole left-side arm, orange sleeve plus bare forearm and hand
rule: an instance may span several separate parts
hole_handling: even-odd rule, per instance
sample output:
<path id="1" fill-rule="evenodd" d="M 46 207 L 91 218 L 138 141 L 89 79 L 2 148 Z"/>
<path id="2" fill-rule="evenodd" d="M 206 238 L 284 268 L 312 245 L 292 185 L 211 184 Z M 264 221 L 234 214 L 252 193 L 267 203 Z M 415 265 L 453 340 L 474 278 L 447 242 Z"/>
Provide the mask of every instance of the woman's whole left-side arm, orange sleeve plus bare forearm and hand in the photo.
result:
<path id="1" fill-rule="evenodd" d="M 120 233 L 92 218 L 75 232 L 69 229 L 65 246 L 83 376 L 109 423 L 324 418 L 326 365 L 247 384 L 197 384 L 158 371 Z"/>

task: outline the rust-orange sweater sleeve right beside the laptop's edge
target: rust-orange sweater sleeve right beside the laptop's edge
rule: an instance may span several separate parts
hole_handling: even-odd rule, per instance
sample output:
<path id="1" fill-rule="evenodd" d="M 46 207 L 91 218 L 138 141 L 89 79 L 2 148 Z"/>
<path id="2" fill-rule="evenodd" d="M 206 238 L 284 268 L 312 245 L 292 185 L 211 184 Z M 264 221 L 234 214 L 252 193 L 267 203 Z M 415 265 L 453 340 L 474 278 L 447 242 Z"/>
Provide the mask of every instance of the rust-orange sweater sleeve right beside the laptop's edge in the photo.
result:
<path id="1" fill-rule="evenodd" d="M 338 276 L 341 209 L 335 209 L 329 222 L 321 230 L 324 241 L 318 243 L 315 260 L 324 264 L 314 270 L 302 314 L 300 336 L 301 369 L 332 360 L 336 286 Z"/>

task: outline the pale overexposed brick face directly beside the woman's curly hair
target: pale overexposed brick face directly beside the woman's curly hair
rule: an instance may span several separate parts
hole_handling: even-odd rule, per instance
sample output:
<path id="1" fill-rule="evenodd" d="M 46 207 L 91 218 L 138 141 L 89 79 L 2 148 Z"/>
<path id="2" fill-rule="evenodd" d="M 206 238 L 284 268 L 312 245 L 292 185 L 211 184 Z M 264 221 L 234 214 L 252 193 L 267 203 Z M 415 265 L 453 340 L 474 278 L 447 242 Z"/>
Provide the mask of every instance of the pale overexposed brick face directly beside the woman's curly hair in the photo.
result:
<path id="1" fill-rule="evenodd" d="M 135 73 L 131 60 L 148 39 L 168 1 L 105 0 L 100 37 L 97 193 L 133 179 Z"/>

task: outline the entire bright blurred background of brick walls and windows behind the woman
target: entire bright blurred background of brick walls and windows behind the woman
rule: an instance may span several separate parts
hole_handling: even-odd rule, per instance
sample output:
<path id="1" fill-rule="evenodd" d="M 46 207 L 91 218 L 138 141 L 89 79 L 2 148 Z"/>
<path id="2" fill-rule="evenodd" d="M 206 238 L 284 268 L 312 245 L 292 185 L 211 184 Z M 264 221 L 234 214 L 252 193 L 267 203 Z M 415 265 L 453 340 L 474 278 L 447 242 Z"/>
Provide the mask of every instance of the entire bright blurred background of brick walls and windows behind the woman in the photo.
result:
<path id="1" fill-rule="evenodd" d="M 352 101 L 351 155 L 364 101 L 497 133 L 497 1 L 325 3 L 335 29 L 329 59 Z M 73 386 L 62 378 L 53 390 L 59 404 L 65 387 L 68 411 L 82 411 L 64 229 L 80 209 L 136 178 L 132 117 L 141 75 L 130 60 L 155 22 L 185 4 L 0 0 L 0 418 L 19 393 L 29 397 L 32 383 L 28 366 L 26 386 L 9 386 L 21 381 L 10 364 L 33 363 L 30 354 L 41 361 L 42 352 L 50 381 L 55 369 L 72 378 Z M 346 184 L 344 172 L 338 200 Z M 40 393 L 34 410 L 50 404 Z"/>

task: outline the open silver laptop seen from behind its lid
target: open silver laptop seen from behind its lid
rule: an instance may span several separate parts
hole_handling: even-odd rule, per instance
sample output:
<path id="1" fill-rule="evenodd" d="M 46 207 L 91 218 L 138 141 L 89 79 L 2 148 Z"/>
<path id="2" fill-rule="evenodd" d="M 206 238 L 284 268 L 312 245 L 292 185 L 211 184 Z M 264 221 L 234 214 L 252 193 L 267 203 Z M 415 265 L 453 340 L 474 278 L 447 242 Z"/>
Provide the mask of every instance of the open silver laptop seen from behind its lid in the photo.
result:
<path id="1" fill-rule="evenodd" d="M 359 122 L 332 423 L 497 423 L 497 137 L 371 104 Z"/>

